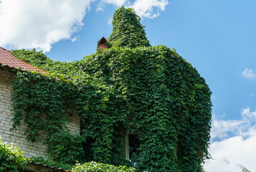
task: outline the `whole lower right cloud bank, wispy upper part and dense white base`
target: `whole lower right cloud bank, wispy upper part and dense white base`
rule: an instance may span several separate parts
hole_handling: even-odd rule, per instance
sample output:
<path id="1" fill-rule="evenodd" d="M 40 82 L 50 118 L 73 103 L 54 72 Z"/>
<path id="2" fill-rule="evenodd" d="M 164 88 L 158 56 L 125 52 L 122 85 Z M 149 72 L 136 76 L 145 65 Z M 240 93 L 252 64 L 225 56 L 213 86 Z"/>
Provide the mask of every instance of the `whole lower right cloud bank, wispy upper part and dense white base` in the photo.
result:
<path id="1" fill-rule="evenodd" d="M 243 108 L 240 120 L 212 119 L 211 160 L 204 169 L 207 172 L 242 172 L 246 167 L 256 171 L 256 111 Z M 213 141 L 219 139 L 218 141 Z"/>

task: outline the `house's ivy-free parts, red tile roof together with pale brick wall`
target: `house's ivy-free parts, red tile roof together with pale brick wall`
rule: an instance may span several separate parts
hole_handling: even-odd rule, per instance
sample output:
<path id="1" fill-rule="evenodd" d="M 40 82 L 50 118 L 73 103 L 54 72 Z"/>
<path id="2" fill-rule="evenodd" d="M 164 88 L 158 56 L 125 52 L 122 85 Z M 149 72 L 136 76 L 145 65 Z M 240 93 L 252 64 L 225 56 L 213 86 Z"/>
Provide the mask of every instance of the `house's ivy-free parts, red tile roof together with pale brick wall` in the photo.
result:
<path id="1" fill-rule="evenodd" d="M 22 123 L 20 130 L 11 131 L 12 128 L 12 118 L 11 115 L 11 80 L 16 75 L 17 70 L 29 70 L 47 74 L 44 70 L 40 70 L 37 67 L 30 65 L 27 62 L 17 59 L 11 52 L 7 49 L 0 47 L 0 135 L 1 139 L 6 143 L 14 143 L 19 148 L 19 150 L 24 152 L 24 156 L 30 158 L 32 156 L 43 158 L 48 158 L 47 155 L 47 145 L 44 145 L 46 135 L 41 135 L 41 140 L 32 143 L 26 139 L 24 130 L 27 128 L 27 124 Z M 74 114 L 67 123 L 67 128 L 70 129 L 72 133 L 80 133 L 80 118 L 77 114 Z M 32 164 L 30 168 L 42 168 L 39 164 Z M 47 168 L 47 167 L 44 167 Z M 52 168 L 48 169 L 52 171 Z"/>

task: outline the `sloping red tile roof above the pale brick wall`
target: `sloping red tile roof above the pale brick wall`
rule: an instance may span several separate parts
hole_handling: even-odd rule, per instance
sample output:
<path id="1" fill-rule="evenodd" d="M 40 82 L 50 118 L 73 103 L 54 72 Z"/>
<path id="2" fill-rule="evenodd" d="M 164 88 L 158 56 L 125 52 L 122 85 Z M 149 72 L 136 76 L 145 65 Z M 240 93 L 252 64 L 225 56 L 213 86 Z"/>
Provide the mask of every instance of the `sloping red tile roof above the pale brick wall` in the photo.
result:
<path id="1" fill-rule="evenodd" d="M 48 73 L 44 70 L 41 70 L 37 67 L 30 65 L 27 62 L 22 61 L 21 59 L 17 59 L 16 57 L 14 57 L 14 55 L 11 54 L 11 51 L 9 51 L 8 49 L 4 49 L 2 47 L 0 47 L 0 64 L 7 67 L 15 68 L 16 70 L 18 70 L 19 67 L 21 67 L 22 70 L 29 70 L 31 72 L 38 70 L 39 72 L 42 72 L 44 74 Z"/>

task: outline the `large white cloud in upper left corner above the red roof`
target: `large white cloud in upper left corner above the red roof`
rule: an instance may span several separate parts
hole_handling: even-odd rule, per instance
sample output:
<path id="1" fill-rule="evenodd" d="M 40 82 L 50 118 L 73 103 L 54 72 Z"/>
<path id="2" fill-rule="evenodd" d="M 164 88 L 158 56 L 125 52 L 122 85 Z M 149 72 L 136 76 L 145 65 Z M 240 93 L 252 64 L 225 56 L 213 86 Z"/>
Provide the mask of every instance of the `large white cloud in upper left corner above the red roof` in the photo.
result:
<path id="1" fill-rule="evenodd" d="M 70 39 L 82 27 L 91 1 L 1 0 L 0 46 L 48 52 L 52 44 Z"/>

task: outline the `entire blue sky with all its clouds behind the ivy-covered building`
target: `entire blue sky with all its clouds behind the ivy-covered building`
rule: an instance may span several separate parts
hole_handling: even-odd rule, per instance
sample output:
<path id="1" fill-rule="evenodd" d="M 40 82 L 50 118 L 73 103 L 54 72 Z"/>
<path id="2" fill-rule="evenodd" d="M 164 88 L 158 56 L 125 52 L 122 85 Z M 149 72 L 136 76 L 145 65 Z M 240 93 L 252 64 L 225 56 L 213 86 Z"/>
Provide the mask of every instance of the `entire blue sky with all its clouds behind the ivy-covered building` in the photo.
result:
<path id="1" fill-rule="evenodd" d="M 121 5 L 136 9 L 152 46 L 176 49 L 211 88 L 213 159 L 205 170 L 256 171 L 255 0 L 0 0 L 0 46 L 80 60 L 109 37 Z"/>

